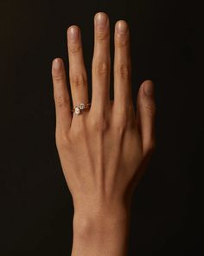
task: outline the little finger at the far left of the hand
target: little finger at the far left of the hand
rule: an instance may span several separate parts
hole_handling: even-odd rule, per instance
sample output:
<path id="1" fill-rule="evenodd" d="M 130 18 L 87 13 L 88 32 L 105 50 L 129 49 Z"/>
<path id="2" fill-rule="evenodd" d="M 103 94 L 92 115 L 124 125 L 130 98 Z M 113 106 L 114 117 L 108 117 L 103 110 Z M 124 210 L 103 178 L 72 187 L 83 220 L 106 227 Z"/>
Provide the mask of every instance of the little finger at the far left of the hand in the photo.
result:
<path id="1" fill-rule="evenodd" d="M 70 97 L 67 90 L 67 79 L 64 62 L 61 60 L 61 58 L 55 58 L 52 63 L 52 77 L 54 84 L 56 129 L 65 134 L 70 128 L 72 114 L 70 107 Z"/>

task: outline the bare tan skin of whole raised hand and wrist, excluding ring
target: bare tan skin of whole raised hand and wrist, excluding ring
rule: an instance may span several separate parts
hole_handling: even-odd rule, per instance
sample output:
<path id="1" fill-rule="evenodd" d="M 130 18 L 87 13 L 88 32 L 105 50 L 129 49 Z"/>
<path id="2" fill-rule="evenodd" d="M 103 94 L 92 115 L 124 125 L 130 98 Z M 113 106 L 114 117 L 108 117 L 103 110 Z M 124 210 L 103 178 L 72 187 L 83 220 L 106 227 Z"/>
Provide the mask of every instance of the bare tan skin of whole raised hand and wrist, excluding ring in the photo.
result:
<path id="1" fill-rule="evenodd" d="M 114 101 L 110 101 L 110 21 L 94 16 L 91 108 L 71 112 L 61 58 L 52 65 L 55 139 L 73 196 L 72 256 L 124 256 L 128 250 L 131 198 L 156 145 L 154 84 L 144 81 L 131 95 L 130 30 L 124 20 L 114 32 Z M 80 28 L 67 29 L 73 106 L 88 102 Z"/>

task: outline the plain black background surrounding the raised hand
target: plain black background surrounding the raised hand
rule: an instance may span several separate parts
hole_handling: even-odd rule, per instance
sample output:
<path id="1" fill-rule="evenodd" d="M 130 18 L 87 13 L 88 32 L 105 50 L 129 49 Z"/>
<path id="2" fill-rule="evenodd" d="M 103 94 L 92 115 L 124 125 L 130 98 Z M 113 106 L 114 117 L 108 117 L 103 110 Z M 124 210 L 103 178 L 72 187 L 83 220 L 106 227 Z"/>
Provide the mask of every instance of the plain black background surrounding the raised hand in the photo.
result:
<path id="1" fill-rule="evenodd" d="M 129 255 L 201 255 L 202 13 L 196 1 L 175 0 L 1 0 L 0 255 L 71 253 L 51 62 L 62 57 L 68 74 L 67 28 L 79 25 L 91 94 L 98 11 L 110 16 L 112 33 L 118 19 L 130 25 L 134 95 L 144 79 L 156 84 L 157 148 L 132 201 Z"/>

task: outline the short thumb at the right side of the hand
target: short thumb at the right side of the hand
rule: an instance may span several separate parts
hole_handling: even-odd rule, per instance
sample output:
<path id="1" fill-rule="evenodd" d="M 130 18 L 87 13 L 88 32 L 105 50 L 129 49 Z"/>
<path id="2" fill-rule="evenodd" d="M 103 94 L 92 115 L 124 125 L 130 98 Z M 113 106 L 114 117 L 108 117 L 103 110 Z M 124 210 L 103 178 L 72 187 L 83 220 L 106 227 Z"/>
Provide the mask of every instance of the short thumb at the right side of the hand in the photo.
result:
<path id="1" fill-rule="evenodd" d="M 156 146 L 155 117 L 154 84 L 146 80 L 137 95 L 137 124 L 142 136 L 144 154 L 151 152 Z"/>

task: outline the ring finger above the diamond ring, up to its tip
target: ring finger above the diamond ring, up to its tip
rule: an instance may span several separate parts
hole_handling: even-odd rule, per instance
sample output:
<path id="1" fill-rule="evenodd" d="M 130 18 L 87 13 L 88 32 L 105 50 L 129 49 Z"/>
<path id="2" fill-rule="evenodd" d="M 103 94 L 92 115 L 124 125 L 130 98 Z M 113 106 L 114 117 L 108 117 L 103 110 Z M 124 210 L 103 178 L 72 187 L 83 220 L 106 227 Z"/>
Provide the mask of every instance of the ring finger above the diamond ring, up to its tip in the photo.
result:
<path id="1" fill-rule="evenodd" d="M 88 86 L 84 64 L 80 28 L 73 25 L 67 30 L 69 78 L 73 107 L 88 103 Z"/>

